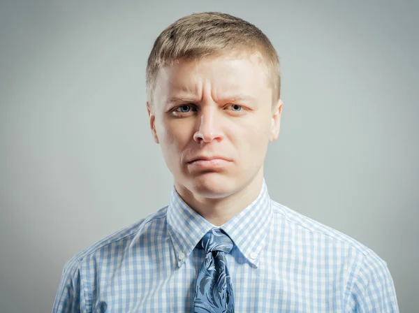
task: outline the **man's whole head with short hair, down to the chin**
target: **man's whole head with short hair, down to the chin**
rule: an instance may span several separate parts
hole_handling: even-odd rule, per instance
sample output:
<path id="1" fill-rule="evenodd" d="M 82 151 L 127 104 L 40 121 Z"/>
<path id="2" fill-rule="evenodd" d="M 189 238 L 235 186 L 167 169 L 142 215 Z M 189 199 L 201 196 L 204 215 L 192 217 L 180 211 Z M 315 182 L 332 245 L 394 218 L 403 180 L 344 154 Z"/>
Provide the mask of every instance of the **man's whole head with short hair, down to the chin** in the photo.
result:
<path id="1" fill-rule="evenodd" d="M 160 34 L 147 63 L 147 110 L 178 190 L 223 198 L 263 177 L 279 133 L 280 82 L 272 44 L 240 18 L 194 14 Z"/>

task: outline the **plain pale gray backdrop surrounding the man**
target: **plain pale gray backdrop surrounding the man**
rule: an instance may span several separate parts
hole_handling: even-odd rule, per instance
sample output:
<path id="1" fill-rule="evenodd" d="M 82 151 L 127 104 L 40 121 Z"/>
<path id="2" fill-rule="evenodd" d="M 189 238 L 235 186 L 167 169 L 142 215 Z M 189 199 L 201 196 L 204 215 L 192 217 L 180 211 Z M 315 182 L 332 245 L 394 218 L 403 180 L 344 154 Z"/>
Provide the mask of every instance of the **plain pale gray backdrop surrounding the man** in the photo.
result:
<path id="1" fill-rule="evenodd" d="M 374 249 L 418 302 L 418 3 L 9 1 L 0 6 L 0 312 L 50 312 L 64 263 L 168 203 L 145 66 L 177 18 L 217 10 L 280 55 L 274 200 Z"/>

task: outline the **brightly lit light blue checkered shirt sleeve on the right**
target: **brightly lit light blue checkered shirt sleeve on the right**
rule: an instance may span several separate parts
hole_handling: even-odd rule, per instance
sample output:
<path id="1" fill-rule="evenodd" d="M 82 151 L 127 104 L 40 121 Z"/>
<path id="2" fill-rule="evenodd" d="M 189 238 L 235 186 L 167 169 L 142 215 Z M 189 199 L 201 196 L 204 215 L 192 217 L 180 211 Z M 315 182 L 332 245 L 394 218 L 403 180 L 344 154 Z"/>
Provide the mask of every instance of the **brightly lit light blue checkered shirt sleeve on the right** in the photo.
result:
<path id="1" fill-rule="evenodd" d="M 353 286 L 350 312 L 398 313 L 395 285 L 388 266 L 374 252 L 365 256 Z"/>

